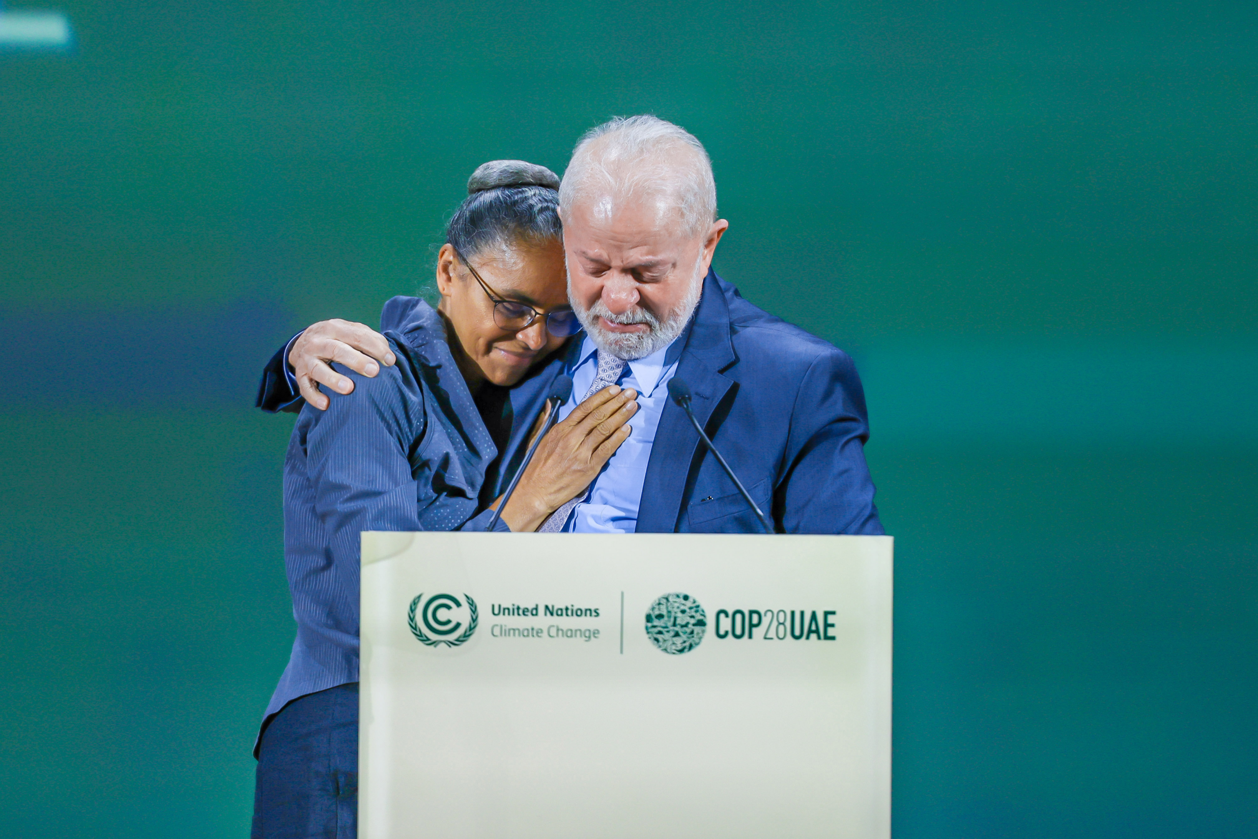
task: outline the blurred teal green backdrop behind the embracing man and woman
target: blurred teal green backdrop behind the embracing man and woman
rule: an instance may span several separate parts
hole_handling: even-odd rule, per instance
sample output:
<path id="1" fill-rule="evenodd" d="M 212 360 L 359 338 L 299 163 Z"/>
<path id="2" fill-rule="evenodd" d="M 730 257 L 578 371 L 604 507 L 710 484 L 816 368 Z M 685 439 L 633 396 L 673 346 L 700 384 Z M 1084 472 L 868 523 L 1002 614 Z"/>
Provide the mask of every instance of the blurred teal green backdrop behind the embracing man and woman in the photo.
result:
<path id="1" fill-rule="evenodd" d="M 1258 835 L 1258 5 L 62 9 L 0 54 L 6 835 L 247 834 L 263 361 L 426 284 L 478 164 L 637 112 L 863 375 L 897 836 Z"/>

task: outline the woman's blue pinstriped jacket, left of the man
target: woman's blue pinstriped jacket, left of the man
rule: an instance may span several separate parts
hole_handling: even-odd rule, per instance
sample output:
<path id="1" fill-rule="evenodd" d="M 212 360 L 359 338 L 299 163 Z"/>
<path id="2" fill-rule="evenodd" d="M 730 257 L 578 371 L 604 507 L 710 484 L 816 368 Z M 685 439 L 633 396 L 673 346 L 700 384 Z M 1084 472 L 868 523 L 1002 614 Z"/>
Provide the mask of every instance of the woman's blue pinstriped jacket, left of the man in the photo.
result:
<path id="1" fill-rule="evenodd" d="M 414 306 L 414 302 L 408 302 Z M 390 301 L 384 322 L 389 323 Z M 476 514 L 497 458 L 437 309 L 414 306 L 385 332 L 398 364 L 353 392 L 302 408 L 284 460 L 284 564 L 297 639 L 265 720 L 307 693 L 359 681 L 362 531 L 483 530 Z M 498 522 L 497 530 L 507 530 Z"/>

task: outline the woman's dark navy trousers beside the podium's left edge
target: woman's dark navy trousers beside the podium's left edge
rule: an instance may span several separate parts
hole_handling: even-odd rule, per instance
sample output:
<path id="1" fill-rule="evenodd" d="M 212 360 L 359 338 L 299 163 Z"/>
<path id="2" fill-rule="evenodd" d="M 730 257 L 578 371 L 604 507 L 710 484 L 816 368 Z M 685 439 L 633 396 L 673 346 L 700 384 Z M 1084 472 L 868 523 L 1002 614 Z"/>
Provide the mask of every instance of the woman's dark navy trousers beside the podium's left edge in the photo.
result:
<path id="1" fill-rule="evenodd" d="M 293 699 L 258 750 L 253 839 L 359 834 L 359 683 Z"/>

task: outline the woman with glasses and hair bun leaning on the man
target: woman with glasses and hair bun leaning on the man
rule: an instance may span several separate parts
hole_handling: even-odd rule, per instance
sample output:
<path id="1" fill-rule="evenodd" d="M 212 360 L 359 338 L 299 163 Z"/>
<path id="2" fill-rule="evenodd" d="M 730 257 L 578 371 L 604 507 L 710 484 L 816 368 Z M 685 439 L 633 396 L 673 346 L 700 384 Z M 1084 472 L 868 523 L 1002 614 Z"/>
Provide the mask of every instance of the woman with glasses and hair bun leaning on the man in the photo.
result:
<path id="1" fill-rule="evenodd" d="M 355 835 L 359 535 L 488 526 L 478 497 L 498 450 L 477 397 L 517 384 L 580 328 L 557 189 L 542 166 L 477 169 L 438 254 L 439 306 L 385 332 L 395 365 L 371 379 L 342 369 L 353 392 L 297 420 L 284 464 L 297 639 L 258 738 L 254 836 Z M 635 396 L 608 387 L 551 429 L 498 528 L 536 530 L 582 491 L 628 438 Z"/>

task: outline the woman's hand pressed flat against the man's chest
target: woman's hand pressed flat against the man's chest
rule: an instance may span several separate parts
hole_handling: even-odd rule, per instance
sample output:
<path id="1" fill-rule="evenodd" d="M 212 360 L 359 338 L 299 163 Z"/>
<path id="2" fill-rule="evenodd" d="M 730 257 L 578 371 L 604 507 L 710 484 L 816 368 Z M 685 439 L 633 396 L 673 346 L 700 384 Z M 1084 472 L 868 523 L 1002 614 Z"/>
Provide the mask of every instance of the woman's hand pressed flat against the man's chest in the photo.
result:
<path id="1" fill-rule="evenodd" d="M 611 385 L 572 409 L 542 442 L 520 478 L 502 520 L 513 531 L 535 531 L 546 517 L 585 491 L 629 439 L 638 391 Z"/>

